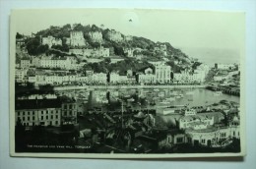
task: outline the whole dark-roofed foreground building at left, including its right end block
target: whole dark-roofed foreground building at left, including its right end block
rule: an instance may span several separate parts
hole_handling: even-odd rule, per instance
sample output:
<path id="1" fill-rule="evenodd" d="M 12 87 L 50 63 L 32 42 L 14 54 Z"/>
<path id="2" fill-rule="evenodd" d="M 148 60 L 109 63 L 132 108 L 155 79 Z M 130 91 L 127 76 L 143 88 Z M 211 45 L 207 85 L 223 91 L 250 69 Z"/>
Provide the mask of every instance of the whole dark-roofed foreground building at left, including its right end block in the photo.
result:
<path id="1" fill-rule="evenodd" d="M 15 120 L 27 127 L 76 124 L 77 106 L 71 99 L 16 100 Z"/>

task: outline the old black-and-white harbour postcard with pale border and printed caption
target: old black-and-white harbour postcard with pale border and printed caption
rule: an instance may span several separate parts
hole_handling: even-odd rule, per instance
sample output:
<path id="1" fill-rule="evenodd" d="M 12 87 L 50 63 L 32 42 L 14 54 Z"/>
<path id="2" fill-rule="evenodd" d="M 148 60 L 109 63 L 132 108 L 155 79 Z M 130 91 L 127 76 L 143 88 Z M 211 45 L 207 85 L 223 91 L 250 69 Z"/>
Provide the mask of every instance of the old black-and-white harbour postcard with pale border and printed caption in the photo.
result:
<path id="1" fill-rule="evenodd" d="M 245 17 L 13 10 L 12 156 L 245 155 Z"/>

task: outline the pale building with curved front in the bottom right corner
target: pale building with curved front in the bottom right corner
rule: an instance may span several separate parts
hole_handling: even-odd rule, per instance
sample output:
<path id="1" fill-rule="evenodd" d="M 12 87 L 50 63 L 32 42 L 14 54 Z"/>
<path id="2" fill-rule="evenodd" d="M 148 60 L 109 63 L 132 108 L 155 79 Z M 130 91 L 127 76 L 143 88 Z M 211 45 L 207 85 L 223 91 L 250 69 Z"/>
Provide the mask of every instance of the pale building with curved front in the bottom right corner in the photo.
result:
<path id="1" fill-rule="evenodd" d="M 239 120 L 236 116 L 228 126 L 224 127 L 168 131 L 164 145 L 174 146 L 189 143 L 192 146 L 224 147 L 233 139 L 240 139 Z"/>

